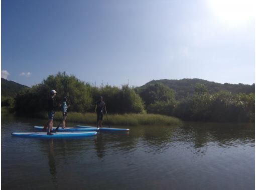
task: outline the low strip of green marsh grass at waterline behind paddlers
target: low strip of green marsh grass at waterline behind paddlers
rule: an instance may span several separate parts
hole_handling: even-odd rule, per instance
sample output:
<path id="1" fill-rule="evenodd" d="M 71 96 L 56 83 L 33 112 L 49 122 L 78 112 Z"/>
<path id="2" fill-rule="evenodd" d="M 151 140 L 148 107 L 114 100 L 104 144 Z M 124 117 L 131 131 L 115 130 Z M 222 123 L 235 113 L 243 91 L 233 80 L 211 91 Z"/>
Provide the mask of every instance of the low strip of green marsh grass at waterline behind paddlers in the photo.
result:
<path id="1" fill-rule="evenodd" d="M 2 114 L 12 112 L 10 107 L 2 107 Z M 47 119 L 46 112 L 33 114 L 33 117 Z M 57 111 L 54 115 L 54 120 L 61 120 L 62 112 Z M 79 113 L 68 112 L 67 122 L 79 122 L 85 124 L 96 124 L 96 113 Z M 104 114 L 103 125 L 177 125 L 181 120 L 176 117 L 160 115 L 160 114 L 140 114 L 140 113 L 125 113 L 125 114 Z"/>

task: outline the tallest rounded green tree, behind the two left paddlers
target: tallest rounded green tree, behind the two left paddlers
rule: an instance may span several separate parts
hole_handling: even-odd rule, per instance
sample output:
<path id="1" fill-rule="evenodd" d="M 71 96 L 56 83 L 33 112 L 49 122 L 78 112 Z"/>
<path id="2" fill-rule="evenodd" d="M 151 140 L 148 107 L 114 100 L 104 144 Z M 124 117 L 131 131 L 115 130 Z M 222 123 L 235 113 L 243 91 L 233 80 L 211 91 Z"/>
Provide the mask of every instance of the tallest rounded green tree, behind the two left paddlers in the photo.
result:
<path id="1" fill-rule="evenodd" d="M 30 114 L 46 110 L 50 90 L 55 89 L 58 93 L 56 100 L 61 103 L 64 96 L 68 96 L 73 111 L 87 111 L 92 107 L 90 85 L 77 79 L 74 75 L 67 75 L 65 72 L 49 75 L 42 83 L 16 96 L 16 110 L 19 113 Z"/>

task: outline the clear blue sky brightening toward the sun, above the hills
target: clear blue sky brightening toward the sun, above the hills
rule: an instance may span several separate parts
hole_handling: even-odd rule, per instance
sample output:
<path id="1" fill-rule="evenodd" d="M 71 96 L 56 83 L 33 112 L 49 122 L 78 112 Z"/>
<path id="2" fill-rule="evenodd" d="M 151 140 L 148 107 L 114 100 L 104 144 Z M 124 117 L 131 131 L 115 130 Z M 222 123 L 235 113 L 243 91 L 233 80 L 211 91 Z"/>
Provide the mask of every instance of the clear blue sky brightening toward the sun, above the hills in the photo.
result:
<path id="1" fill-rule="evenodd" d="M 2 0 L 2 77 L 254 82 L 253 0 Z"/>

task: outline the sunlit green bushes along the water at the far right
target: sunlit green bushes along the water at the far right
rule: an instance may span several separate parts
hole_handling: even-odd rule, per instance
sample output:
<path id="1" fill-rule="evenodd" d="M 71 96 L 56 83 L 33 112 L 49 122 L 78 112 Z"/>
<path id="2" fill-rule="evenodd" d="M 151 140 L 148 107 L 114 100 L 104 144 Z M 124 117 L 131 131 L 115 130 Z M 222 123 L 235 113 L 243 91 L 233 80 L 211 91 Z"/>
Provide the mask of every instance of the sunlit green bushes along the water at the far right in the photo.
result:
<path id="1" fill-rule="evenodd" d="M 254 121 L 254 106 L 254 93 L 194 93 L 178 103 L 174 115 L 197 121 Z"/>

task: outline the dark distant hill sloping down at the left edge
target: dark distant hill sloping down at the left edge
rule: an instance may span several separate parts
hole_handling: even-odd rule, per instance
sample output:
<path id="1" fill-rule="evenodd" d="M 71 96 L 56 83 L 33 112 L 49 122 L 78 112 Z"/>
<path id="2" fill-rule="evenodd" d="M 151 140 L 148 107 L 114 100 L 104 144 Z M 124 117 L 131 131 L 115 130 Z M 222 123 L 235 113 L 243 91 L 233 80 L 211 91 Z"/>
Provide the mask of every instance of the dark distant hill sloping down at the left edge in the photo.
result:
<path id="1" fill-rule="evenodd" d="M 5 78 L 1 78 L 1 96 L 15 97 L 17 93 L 24 88 L 29 87 Z"/>

